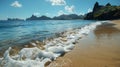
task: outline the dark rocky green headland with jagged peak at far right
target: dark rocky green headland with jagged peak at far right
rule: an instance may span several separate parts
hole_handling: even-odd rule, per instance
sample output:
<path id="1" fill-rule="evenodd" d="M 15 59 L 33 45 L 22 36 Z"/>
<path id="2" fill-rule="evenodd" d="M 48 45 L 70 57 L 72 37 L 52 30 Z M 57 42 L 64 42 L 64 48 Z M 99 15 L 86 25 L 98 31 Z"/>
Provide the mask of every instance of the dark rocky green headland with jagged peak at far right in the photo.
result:
<path id="1" fill-rule="evenodd" d="M 105 6 L 95 3 L 93 11 L 86 14 L 87 20 L 112 20 L 120 19 L 120 6 L 113 6 L 107 3 Z"/>

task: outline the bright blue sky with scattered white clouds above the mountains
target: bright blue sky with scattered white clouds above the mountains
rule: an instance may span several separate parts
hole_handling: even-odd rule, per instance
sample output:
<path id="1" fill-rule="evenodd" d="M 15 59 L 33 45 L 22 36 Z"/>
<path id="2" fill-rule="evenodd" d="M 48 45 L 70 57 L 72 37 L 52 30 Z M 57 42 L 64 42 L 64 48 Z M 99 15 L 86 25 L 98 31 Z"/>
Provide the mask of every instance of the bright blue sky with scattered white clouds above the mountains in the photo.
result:
<path id="1" fill-rule="evenodd" d="M 31 15 L 49 17 L 61 14 L 84 15 L 92 11 L 94 3 L 120 5 L 120 0 L 0 0 L 0 19 L 21 18 Z"/>

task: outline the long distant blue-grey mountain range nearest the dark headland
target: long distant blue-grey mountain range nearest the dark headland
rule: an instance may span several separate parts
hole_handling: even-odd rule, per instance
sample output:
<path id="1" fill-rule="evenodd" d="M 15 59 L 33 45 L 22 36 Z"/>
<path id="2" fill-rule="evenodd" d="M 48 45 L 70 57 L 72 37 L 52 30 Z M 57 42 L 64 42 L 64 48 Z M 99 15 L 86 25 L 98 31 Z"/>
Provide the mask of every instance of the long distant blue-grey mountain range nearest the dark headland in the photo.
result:
<path id="1" fill-rule="evenodd" d="M 57 17 L 53 17 L 53 20 L 73 20 L 73 19 L 83 19 L 84 16 L 80 15 L 78 16 L 77 14 L 69 14 L 69 15 L 60 15 Z"/>

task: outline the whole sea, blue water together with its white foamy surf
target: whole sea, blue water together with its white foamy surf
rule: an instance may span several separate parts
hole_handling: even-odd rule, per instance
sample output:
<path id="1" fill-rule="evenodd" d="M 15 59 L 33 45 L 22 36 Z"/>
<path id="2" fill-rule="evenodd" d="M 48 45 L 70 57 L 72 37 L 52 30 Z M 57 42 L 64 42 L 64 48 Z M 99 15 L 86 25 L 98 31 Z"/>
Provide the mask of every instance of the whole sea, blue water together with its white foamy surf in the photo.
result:
<path id="1" fill-rule="evenodd" d="M 8 47 L 0 57 L 0 67 L 45 67 L 47 62 L 56 60 L 58 57 L 70 52 L 75 43 L 85 38 L 98 25 L 109 23 L 109 21 L 88 20 L 42 20 L 42 21 L 14 21 L 1 22 L 1 47 Z M 4 32 L 4 33 L 3 33 Z M 56 33 L 61 36 L 55 36 Z M 44 45 L 39 41 L 31 42 L 34 47 L 18 50 L 11 46 L 32 40 L 45 40 Z M 3 41 L 2 41 L 3 40 Z M 4 42 L 5 41 L 5 42 Z M 4 45 L 5 44 L 5 45 Z M 19 47 L 17 45 L 17 47 Z M 13 54 L 10 56 L 10 51 Z M 18 51 L 18 52 L 17 52 Z M 56 64 L 55 64 L 56 65 Z M 51 67 L 56 67 L 55 65 Z"/>

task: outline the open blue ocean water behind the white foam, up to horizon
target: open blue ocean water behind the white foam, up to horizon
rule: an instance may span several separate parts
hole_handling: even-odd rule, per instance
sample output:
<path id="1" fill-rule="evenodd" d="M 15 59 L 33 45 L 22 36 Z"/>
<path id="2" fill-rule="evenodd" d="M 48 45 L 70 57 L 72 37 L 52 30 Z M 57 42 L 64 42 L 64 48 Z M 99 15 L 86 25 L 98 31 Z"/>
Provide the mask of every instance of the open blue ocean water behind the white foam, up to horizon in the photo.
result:
<path id="1" fill-rule="evenodd" d="M 44 40 L 56 33 L 80 28 L 95 21 L 90 20 L 37 20 L 0 21 L 0 49 L 23 45 L 32 40 Z"/>

